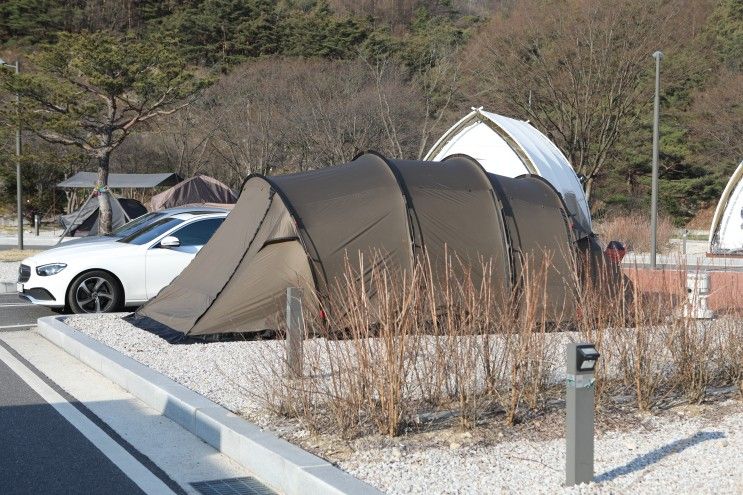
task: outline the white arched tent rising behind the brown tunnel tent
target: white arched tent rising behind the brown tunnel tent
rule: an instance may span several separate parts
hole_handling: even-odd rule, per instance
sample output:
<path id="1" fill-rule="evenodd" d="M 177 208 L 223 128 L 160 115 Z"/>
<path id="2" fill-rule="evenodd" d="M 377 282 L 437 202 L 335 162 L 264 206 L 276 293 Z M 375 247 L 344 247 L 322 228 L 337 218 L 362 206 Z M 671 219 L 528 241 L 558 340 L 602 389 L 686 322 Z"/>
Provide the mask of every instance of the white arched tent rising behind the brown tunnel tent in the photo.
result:
<path id="1" fill-rule="evenodd" d="M 547 136 L 523 120 L 473 108 L 433 145 L 425 160 L 465 154 L 488 172 L 518 177 L 539 175 L 562 195 L 583 234 L 591 232 L 591 212 L 583 186 L 565 155 Z"/>

